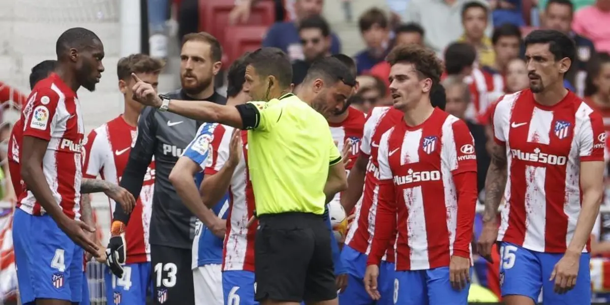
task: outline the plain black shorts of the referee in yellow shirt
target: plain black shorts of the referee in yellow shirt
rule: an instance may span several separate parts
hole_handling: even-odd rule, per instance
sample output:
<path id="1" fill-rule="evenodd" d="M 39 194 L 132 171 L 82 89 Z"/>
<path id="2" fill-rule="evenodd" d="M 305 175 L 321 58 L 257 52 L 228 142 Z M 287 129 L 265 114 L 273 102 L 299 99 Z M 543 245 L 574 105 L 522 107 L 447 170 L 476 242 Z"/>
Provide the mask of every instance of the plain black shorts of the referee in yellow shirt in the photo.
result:
<path id="1" fill-rule="evenodd" d="M 260 215 L 256 231 L 256 300 L 326 301 L 337 297 L 331 232 L 322 215 Z"/>

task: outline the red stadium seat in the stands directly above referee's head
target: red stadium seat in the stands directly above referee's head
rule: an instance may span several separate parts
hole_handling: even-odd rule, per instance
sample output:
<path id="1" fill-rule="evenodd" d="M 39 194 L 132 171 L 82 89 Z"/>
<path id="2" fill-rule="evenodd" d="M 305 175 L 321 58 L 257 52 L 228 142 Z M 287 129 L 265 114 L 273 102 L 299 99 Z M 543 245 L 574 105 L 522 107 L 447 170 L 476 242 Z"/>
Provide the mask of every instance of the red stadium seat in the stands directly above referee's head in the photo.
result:
<path id="1" fill-rule="evenodd" d="M 267 26 L 229 26 L 225 29 L 226 42 L 223 45 L 230 65 L 246 51 L 260 48 L 267 33 Z"/>

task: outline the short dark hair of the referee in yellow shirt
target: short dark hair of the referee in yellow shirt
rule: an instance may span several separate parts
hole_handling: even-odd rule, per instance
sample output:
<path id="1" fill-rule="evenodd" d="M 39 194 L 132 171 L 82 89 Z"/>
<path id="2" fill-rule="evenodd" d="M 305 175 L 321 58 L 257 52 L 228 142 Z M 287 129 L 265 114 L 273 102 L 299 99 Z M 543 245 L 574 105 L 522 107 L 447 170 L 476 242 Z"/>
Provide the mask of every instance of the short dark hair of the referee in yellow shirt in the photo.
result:
<path id="1" fill-rule="evenodd" d="M 275 76 L 282 88 L 289 88 L 292 84 L 292 63 L 281 49 L 257 49 L 250 54 L 249 65 L 262 77 Z"/>

